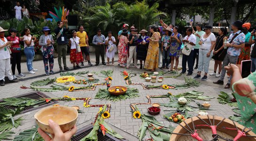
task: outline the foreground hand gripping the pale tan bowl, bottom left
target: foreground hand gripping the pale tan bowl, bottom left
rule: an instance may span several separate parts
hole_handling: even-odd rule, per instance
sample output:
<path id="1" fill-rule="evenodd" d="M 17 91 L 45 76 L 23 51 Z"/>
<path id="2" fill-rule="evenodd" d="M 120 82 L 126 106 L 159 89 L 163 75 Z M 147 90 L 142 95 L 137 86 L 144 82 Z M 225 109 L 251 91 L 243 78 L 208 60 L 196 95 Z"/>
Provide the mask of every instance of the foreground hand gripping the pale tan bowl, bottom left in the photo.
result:
<path id="1" fill-rule="evenodd" d="M 54 134 L 51 134 L 52 138 L 40 128 L 37 130 L 45 141 L 70 141 L 71 137 L 77 131 L 76 126 L 74 125 L 70 131 L 63 133 L 60 126 L 51 119 L 49 119 L 49 126 L 54 132 Z"/>

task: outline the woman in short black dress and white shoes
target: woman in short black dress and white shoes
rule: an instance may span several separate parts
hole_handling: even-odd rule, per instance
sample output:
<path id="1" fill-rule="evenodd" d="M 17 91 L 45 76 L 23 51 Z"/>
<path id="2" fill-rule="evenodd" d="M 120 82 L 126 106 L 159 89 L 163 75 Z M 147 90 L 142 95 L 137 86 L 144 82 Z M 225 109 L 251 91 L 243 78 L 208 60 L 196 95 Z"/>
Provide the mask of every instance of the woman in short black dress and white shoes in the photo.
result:
<path id="1" fill-rule="evenodd" d="M 210 74 L 210 76 L 215 76 L 216 78 L 220 77 L 221 69 L 222 69 L 222 61 L 219 58 L 219 55 L 224 50 L 224 38 L 227 35 L 227 29 L 225 27 L 222 27 L 218 31 L 219 36 L 216 38 L 216 45 L 214 47 L 214 52 L 212 58 L 214 59 L 214 72 Z M 227 37 L 226 37 L 227 38 Z M 219 72 L 216 74 L 217 68 L 219 66 Z"/>

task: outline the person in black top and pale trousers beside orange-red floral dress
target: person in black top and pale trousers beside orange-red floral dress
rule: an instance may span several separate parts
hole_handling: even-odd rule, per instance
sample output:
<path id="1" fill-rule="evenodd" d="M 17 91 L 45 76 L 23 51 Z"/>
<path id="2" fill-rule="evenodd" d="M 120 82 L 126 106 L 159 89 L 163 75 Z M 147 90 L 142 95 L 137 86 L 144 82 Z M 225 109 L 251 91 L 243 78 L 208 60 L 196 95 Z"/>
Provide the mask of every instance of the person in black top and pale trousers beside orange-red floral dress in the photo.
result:
<path id="1" fill-rule="evenodd" d="M 137 40 L 138 36 L 136 35 L 135 28 L 131 28 L 131 35 L 129 36 L 129 57 L 127 61 L 126 68 L 129 69 L 132 59 L 134 58 L 134 67 L 137 68 Z"/>

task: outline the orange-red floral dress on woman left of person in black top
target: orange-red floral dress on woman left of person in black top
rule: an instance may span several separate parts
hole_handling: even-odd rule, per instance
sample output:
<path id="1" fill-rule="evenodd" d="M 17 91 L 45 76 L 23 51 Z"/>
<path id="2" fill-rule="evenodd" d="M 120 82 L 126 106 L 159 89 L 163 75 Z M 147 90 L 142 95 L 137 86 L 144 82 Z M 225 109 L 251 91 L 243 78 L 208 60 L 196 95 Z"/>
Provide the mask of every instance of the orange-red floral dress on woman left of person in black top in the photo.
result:
<path id="1" fill-rule="evenodd" d="M 128 46 L 125 43 L 125 36 L 121 36 L 118 44 L 118 63 L 126 64 L 128 57 Z"/>

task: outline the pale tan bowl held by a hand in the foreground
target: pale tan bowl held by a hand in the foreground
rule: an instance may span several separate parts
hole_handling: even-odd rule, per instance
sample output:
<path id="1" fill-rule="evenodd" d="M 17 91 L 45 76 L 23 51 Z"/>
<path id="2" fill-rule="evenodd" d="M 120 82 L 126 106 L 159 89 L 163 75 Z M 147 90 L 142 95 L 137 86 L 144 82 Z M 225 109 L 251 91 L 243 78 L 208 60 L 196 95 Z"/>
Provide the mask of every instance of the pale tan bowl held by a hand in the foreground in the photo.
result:
<path id="1" fill-rule="evenodd" d="M 66 106 L 46 107 L 39 110 L 34 115 L 37 125 L 47 133 L 53 133 L 48 125 L 48 119 L 55 121 L 60 125 L 61 130 L 66 132 L 76 124 L 77 117 L 78 111 L 72 107 Z"/>

